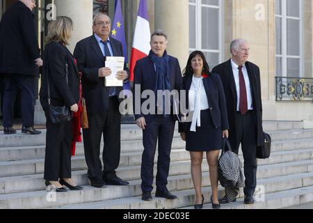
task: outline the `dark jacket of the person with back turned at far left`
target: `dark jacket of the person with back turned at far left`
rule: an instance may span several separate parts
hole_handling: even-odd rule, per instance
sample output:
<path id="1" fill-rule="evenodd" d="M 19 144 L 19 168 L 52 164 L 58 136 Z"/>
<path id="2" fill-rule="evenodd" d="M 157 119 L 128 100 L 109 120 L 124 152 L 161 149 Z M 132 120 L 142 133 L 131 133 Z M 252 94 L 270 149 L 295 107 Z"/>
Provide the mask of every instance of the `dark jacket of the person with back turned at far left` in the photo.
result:
<path id="1" fill-rule="evenodd" d="M 35 59 L 40 58 L 33 13 L 17 1 L 0 23 L 0 73 L 39 75 Z"/>

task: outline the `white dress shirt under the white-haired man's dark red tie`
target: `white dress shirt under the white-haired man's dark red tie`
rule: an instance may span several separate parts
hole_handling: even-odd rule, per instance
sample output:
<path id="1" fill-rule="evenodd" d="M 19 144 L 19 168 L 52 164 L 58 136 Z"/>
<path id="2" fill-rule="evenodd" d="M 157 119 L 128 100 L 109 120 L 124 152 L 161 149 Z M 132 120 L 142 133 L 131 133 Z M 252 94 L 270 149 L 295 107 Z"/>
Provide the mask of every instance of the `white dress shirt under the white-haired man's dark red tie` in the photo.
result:
<path id="1" fill-rule="evenodd" d="M 239 112 L 239 103 L 240 103 L 240 85 L 239 85 L 239 66 L 232 61 L 232 72 L 234 73 L 234 80 L 236 84 L 236 91 L 237 91 L 237 112 Z M 245 79 L 246 83 L 246 91 L 247 91 L 247 102 L 248 102 L 248 110 L 253 110 L 253 104 L 252 104 L 252 93 L 251 93 L 251 87 L 250 87 L 250 80 L 248 76 L 248 71 L 245 65 L 242 67 L 243 72 L 243 78 Z"/>

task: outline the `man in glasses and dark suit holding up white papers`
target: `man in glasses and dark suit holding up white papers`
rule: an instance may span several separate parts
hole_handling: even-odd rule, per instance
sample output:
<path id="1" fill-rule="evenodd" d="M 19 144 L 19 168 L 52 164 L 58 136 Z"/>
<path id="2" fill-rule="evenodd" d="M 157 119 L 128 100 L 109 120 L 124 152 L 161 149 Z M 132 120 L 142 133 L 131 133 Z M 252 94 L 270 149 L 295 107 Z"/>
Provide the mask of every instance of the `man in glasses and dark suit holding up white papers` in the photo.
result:
<path id="1" fill-rule="evenodd" d="M 83 74 L 83 97 L 89 128 L 83 130 L 88 178 L 93 187 L 105 185 L 128 185 L 116 176 L 115 169 L 120 164 L 120 121 L 119 94 L 122 87 L 106 87 L 105 77 L 111 75 L 111 69 L 104 67 L 105 56 L 124 56 L 122 43 L 109 38 L 111 32 L 110 17 L 99 13 L 93 21 L 93 36 L 77 43 L 74 58 L 79 71 Z M 127 70 L 125 66 L 125 70 Z M 117 74 L 118 79 L 126 81 L 127 71 Z M 104 136 L 103 163 L 99 159 L 100 143 Z"/>

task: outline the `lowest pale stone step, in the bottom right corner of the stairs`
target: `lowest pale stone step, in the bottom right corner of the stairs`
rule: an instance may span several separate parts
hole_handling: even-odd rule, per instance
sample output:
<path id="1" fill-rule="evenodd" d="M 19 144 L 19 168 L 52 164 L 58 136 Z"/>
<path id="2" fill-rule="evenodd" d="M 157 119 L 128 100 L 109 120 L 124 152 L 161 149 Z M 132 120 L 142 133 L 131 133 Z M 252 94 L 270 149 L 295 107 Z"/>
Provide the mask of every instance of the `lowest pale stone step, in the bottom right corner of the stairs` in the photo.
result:
<path id="1" fill-rule="evenodd" d="M 257 196 L 255 199 L 257 202 L 253 204 L 245 204 L 241 198 L 233 203 L 222 204 L 220 207 L 221 209 L 280 209 L 299 206 L 313 201 L 313 186 L 268 193 L 264 194 L 264 197 Z M 193 209 L 193 206 L 181 209 Z M 203 209 L 212 209 L 211 203 L 204 204 Z"/>

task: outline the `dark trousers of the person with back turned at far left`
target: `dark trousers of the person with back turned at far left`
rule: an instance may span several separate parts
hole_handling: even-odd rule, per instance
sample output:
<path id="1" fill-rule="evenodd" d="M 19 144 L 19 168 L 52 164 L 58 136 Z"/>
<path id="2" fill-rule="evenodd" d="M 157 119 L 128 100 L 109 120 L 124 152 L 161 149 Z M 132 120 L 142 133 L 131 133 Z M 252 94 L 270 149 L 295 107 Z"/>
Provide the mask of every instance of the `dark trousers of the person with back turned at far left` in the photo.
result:
<path id="1" fill-rule="evenodd" d="M 14 103 L 17 90 L 21 90 L 22 122 L 26 127 L 33 126 L 35 111 L 35 77 L 32 75 L 4 75 L 3 126 L 12 127 Z"/>

